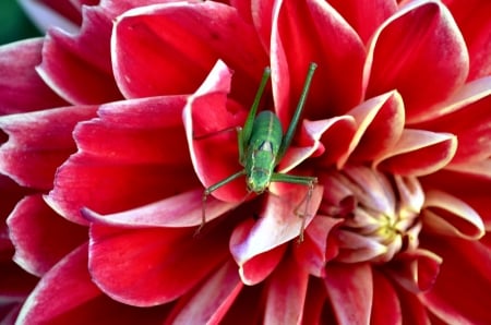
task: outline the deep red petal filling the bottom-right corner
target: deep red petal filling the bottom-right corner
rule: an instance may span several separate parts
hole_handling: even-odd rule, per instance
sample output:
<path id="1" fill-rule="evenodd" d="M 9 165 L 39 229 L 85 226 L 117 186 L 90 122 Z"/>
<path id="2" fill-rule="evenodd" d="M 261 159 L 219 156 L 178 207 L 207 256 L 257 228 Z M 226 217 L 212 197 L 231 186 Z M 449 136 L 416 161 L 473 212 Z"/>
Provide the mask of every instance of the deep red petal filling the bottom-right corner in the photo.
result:
<path id="1" fill-rule="evenodd" d="M 446 237 L 429 238 L 424 244 L 444 263 L 435 285 L 420 296 L 421 301 L 444 323 L 487 324 L 491 301 L 490 248 Z"/>

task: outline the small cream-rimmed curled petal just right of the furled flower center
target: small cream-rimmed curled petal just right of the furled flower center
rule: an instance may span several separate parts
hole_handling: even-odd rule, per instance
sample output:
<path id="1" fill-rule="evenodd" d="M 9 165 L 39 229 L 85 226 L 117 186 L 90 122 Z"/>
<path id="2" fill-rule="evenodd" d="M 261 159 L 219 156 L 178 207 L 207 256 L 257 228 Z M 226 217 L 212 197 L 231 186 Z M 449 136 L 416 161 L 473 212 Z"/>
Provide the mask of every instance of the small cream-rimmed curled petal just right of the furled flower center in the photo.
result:
<path id="1" fill-rule="evenodd" d="M 481 217 L 464 201 L 441 191 L 428 191 L 422 217 L 424 229 L 468 240 L 484 236 Z"/>

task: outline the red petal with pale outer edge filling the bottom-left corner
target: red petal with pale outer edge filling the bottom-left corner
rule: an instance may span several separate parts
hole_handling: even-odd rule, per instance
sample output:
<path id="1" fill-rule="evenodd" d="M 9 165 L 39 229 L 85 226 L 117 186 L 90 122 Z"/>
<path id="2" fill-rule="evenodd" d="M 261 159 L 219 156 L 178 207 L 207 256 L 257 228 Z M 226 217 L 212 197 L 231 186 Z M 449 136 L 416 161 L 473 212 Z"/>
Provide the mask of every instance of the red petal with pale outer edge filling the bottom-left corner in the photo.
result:
<path id="1" fill-rule="evenodd" d="M 62 299 L 60 299 L 62 297 Z M 115 302 L 93 284 L 87 245 L 82 245 L 47 273 L 23 305 L 22 324 L 160 323 L 165 308 L 136 309 Z"/>

